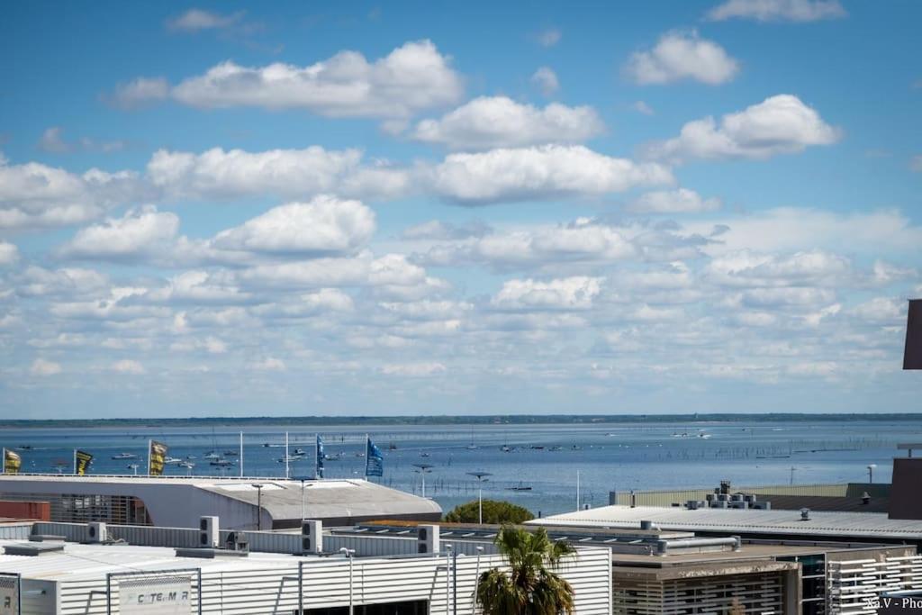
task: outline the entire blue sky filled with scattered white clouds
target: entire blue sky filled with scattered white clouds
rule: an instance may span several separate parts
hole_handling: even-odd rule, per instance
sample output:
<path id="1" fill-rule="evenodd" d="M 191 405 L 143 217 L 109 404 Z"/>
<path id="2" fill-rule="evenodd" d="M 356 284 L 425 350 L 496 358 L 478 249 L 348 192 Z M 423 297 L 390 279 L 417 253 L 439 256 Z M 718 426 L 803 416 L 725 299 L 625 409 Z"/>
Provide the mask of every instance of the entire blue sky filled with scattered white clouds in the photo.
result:
<path id="1" fill-rule="evenodd" d="M 0 418 L 920 411 L 920 20 L 7 2 Z"/>

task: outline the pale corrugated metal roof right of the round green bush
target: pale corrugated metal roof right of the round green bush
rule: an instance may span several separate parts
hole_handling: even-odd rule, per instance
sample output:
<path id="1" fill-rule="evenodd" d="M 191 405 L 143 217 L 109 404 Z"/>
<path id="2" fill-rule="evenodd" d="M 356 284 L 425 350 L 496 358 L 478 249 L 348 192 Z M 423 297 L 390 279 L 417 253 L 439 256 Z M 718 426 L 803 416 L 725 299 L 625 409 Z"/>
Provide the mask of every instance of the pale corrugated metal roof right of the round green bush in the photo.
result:
<path id="1" fill-rule="evenodd" d="M 798 511 L 661 508 L 657 506 L 603 506 L 587 511 L 555 514 L 529 521 L 545 526 L 636 527 L 653 521 L 662 529 L 798 534 L 834 538 L 922 539 L 922 521 L 890 519 L 881 513 L 811 511 L 800 520 Z"/>

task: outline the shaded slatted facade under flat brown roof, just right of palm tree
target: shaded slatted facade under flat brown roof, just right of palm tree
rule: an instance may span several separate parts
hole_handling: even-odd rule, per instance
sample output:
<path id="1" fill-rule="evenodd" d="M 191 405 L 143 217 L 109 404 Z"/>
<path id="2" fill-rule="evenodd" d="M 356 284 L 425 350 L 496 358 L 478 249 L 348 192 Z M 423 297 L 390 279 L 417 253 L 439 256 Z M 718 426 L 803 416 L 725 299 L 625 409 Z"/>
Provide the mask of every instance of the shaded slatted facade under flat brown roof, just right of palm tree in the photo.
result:
<path id="1" fill-rule="evenodd" d="M 742 609 L 742 610 L 739 610 Z M 784 612 L 782 573 L 736 574 L 670 581 L 615 579 L 615 615 Z"/>

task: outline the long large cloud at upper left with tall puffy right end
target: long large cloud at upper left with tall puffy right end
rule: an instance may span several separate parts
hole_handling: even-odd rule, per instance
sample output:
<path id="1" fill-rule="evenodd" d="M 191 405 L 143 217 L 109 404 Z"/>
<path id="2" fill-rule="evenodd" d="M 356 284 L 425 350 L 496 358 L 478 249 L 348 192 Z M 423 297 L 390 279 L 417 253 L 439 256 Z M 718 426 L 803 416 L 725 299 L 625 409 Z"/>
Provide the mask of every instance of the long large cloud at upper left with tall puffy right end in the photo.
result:
<path id="1" fill-rule="evenodd" d="M 313 65 L 259 67 L 231 61 L 170 87 L 140 78 L 116 89 L 115 101 L 174 101 L 201 109 L 305 109 L 328 117 L 406 118 L 458 101 L 462 78 L 431 41 L 411 41 L 369 62 L 353 51 Z"/>

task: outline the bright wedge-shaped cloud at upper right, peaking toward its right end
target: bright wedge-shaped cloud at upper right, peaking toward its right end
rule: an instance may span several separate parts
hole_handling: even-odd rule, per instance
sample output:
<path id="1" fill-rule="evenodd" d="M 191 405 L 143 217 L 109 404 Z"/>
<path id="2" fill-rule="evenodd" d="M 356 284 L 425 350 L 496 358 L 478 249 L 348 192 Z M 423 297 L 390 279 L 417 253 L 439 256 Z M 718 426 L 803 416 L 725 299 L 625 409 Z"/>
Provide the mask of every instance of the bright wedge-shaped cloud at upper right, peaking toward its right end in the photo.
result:
<path id="1" fill-rule="evenodd" d="M 832 145 L 842 131 L 826 124 L 820 114 L 796 96 L 778 94 L 727 113 L 718 126 L 705 117 L 682 126 L 680 135 L 653 144 L 648 153 L 657 160 L 755 159 L 793 154 L 810 146 Z"/>

